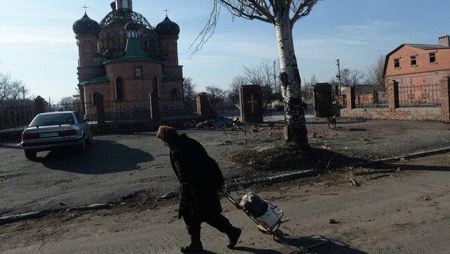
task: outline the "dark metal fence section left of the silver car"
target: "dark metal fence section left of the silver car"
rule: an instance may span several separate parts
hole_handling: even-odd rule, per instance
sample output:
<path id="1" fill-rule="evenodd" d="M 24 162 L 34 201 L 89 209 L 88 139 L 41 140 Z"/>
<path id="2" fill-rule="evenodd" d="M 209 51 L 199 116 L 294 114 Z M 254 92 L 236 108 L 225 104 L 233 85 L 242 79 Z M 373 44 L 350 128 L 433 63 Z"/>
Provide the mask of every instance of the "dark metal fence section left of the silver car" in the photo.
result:
<path id="1" fill-rule="evenodd" d="M 28 126 L 35 117 L 34 111 L 34 104 L 0 106 L 0 130 Z"/>

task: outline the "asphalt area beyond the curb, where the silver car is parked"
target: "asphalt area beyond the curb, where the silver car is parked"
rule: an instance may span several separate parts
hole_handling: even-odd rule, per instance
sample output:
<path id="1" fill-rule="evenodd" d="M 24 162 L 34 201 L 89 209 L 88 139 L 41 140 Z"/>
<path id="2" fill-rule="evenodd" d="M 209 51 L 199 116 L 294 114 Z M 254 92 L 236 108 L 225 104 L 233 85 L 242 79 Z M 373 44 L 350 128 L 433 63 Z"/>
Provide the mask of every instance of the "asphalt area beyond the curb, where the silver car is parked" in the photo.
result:
<path id="1" fill-rule="evenodd" d="M 278 121 L 274 116 L 271 120 Z M 336 131 L 324 119 L 309 118 L 309 142 L 349 157 L 378 158 L 450 146 L 450 126 L 433 122 L 341 121 Z M 245 130 L 245 131 L 244 131 Z M 219 162 L 225 177 L 251 174 L 227 154 L 281 140 L 281 130 L 188 130 Z M 272 135 L 271 135 L 272 134 Z M 25 159 L 15 144 L 0 145 L 0 216 L 110 202 L 138 190 L 161 195 L 176 186 L 168 150 L 154 133 L 95 137 L 87 153 L 38 153 Z"/>

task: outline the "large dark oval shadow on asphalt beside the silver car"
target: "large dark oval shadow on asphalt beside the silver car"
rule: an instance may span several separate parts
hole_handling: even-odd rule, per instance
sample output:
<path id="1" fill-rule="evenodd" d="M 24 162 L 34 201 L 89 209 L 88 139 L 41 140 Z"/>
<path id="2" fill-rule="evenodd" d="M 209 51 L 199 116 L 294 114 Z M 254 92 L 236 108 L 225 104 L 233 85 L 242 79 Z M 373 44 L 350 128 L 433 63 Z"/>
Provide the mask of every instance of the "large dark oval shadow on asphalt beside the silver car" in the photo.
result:
<path id="1" fill-rule="evenodd" d="M 139 169 L 143 162 L 154 157 L 143 150 L 129 148 L 116 141 L 99 140 L 86 146 L 86 152 L 76 153 L 72 149 L 53 150 L 45 157 L 37 158 L 46 168 L 82 174 L 107 174 Z"/>

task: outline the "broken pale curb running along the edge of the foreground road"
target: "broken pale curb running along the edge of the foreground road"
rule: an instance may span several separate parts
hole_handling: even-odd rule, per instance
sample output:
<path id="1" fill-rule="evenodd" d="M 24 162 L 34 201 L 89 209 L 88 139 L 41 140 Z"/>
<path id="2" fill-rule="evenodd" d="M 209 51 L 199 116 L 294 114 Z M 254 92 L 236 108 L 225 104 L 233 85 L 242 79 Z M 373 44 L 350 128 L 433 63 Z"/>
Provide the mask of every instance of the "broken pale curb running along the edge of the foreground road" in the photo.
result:
<path id="1" fill-rule="evenodd" d="M 402 158 L 403 159 L 411 159 L 411 158 L 415 158 L 415 157 L 424 157 L 427 155 L 434 155 L 434 154 L 438 154 L 438 153 L 447 153 L 447 152 L 450 152 L 450 147 L 439 148 L 439 149 L 429 150 L 429 151 L 424 151 L 424 152 L 411 153 L 409 155 L 400 155 L 400 156 L 388 157 L 388 158 L 384 158 L 384 159 L 375 159 L 375 160 L 372 160 L 369 162 L 359 162 L 359 163 L 355 163 L 355 164 L 349 164 L 349 166 L 368 166 L 368 165 L 372 165 L 372 164 L 379 164 L 379 163 L 384 163 L 384 162 L 395 161 L 395 160 L 399 160 Z M 267 183 L 283 182 L 283 181 L 291 180 L 291 179 L 310 177 L 312 175 L 316 175 L 317 173 L 318 173 L 318 170 L 314 170 L 314 169 L 301 170 L 301 171 L 286 173 L 286 174 L 282 174 L 282 175 L 275 175 L 272 177 L 264 177 L 262 179 L 254 179 L 254 180 L 248 180 L 248 181 L 243 181 L 243 182 L 235 182 L 235 183 L 231 183 L 231 184 L 226 184 L 224 186 L 224 189 L 227 190 L 228 188 L 242 188 L 242 187 L 251 186 L 254 184 L 267 184 Z M 165 193 L 164 195 L 157 196 L 156 199 L 171 199 L 172 197 L 175 197 L 176 195 L 177 195 L 177 191 L 170 191 L 169 193 Z M 68 208 L 66 211 L 67 212 L 90 211 L 90 210 L 109 209 L 109 208 L 113 208 L 113 207 L 114 207 L 114 204 L 102 203 L 102 204 L 91 204 L 89 206 L 72 207 L 72 208 Z M 19 215 L 10 215 L 10 216 L 6 216 L 6 217 L 0 217 L 0 226 L 2 226 L 4 224 L 12 223 L 12 222 L 19 222 L 24 219 L 37 219 L 40 217 L 44 217 L 45 215 L 47 215 L 47 213 L 48 212 L 32 212 L 32 213 L 21 213 Z"/>

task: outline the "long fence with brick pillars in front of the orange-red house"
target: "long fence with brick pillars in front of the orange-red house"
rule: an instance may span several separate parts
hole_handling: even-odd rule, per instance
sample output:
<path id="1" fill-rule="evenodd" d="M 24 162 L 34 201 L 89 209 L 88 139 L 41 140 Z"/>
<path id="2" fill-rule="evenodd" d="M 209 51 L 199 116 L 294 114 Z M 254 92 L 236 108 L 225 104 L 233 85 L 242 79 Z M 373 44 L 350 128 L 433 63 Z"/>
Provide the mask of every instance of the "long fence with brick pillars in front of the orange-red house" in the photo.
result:
<path id="1" fill-rule="evenodd" d="M 450 121 L 450 77 L 441 79 L 440 84 L 413 86 L 402 86 L 394 80 L 387 88 L 386 92 L 360 94 L 355 87 L 349 87 L 348 105 L 341 110 L 341 116 Z"/>

